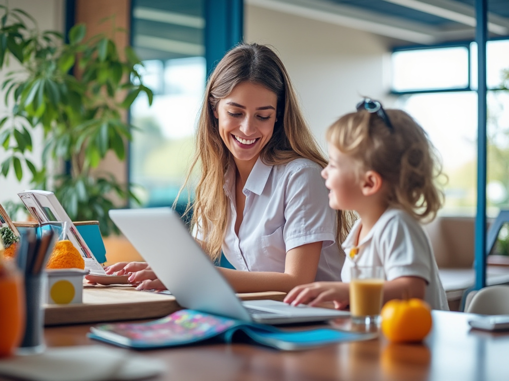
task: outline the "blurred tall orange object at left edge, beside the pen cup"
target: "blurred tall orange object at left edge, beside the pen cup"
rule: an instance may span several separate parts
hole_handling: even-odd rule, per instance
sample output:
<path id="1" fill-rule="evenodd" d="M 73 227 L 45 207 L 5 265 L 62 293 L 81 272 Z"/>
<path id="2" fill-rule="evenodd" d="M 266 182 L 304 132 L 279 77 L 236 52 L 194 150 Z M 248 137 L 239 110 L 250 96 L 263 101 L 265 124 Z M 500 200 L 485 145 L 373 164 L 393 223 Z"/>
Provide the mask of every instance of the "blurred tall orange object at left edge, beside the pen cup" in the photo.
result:
<path id="1" fill-rule="evenodd" d="M 0 259 L 0 357 L 14 354 L 25 329 L 23 277 L 9 262 Z"/>

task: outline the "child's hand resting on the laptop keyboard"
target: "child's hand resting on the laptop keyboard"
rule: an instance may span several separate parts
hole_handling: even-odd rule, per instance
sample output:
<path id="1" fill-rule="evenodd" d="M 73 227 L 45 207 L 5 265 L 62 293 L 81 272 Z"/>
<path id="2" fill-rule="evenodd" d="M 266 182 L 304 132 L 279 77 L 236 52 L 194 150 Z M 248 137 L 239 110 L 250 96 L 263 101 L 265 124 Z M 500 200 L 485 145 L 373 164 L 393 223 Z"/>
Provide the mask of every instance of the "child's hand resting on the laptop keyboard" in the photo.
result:
<path id="1" fill-rule="evenodd" d="M 342 309 L 349 304 L 349 300 L 348 283 L 314 282 L 295 287 L 287 294 L 284 302 L 293 306 L 301 303 L 316 306 L 332 301 L 336 309 Z"/>

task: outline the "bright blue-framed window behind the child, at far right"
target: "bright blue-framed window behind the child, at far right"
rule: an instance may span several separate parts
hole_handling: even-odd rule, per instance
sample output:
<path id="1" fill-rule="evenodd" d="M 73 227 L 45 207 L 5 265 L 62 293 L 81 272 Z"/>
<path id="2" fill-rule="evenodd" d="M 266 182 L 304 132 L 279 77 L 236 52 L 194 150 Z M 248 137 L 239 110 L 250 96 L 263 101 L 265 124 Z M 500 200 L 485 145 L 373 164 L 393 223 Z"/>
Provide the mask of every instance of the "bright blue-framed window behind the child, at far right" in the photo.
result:
<path id="1" fill-rule="evenodd" d="M 487 45 L 488 215 L 509 207 L 509 40 Z M 445 205 L 442 214 L 475 215 L 477 189 L 476 45 L 397 50 L 393 93 L 428 132 L 442 157 Z M 469 59 L 470 57 L 470 59 Z"/>

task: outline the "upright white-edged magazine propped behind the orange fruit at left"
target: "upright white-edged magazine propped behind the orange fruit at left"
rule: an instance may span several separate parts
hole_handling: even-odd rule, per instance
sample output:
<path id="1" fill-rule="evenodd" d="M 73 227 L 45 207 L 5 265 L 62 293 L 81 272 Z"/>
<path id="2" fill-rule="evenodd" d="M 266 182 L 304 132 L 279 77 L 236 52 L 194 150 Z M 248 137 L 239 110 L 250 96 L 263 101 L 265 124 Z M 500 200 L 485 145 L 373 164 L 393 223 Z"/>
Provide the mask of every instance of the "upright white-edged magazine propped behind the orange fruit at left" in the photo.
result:
<path id="1" fill-rule="evenodd" d="M 18 193 L 18 196 L 39 224 L 51 221 L 65 222 L 67 239 L 72 242 L 74 247 L 78 249 L 81 257 L 83 257 L 85 270 L 90 270 L 91 274 L 96 275 L 106 274 L 53 192 L 48 192 L 47 190 L 25 190 L 25 192 Z"/>

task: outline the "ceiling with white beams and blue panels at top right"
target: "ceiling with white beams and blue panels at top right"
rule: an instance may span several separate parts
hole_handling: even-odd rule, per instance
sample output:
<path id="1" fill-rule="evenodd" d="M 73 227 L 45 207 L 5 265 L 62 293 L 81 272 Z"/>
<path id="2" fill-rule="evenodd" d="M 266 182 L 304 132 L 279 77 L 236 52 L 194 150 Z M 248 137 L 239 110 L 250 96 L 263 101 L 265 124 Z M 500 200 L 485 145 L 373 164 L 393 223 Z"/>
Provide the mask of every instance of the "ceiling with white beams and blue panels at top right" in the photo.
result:
<path id="1" fill-rule="evenodd" d="M 469 4 L 453 0 L 371 0 L 377 7 L 356 7 L 341 0 L 245 0 L 247 4 L 315 19 L 354 29 L 369 31 L 416 44 L 437 44 L 468 40 L 475 36 L 475 10 Z M 345 3 L 345 4 L 342 4 Z M 351 4 L 346 4 L 351 3 Z M 385 4 L 384 4 L 385 3 Z M 360 4 L 360 3 L 359 3 Z M 504 0 L 502 6 L 509 0 Z M 404 7 L 408 15 L 391 13 L 394 5 Z M 384 11 L 384 6 L 387 12 Z M 500 6 L 499 6 L 500 7 Z M 421 14 L 422 20 L 415 15 Z M 507 13 L 505 13 L 507 14 Z M 433 18 L 435 22 L 430 22 Z M 436 22 L 443 20 L 443 22 Z M 490 36 L 509 36 L 509 18 L 488 14 Z"/>

